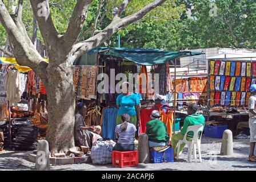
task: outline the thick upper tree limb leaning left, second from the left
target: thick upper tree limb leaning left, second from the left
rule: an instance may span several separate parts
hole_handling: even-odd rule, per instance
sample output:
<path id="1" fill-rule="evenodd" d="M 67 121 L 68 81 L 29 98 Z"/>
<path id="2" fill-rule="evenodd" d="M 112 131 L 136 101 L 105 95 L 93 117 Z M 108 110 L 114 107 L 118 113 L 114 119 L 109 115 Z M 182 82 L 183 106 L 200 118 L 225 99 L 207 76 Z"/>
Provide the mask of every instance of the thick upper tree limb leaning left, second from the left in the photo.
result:
<path id="1" fill-rule="evenodd" d="M 42 34 L 43 41 L 49 52 L 58 47 L 58 32 L 51 18 L 48 0 L 30 0 L 35 18 L 37 19 L 39 30 Z"/>

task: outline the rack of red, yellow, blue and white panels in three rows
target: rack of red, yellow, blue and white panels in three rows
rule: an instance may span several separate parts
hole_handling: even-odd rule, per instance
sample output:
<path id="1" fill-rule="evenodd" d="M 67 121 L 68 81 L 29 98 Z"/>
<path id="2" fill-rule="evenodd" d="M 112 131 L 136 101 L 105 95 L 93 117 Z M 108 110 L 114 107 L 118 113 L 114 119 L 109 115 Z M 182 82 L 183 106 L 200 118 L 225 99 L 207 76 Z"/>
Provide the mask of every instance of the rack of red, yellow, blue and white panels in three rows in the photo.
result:
<path id="1" fill-rule="evenodd" d="M 210 105 L 248 106 L 255 83 L 256 63 L 210 61 Z"/>

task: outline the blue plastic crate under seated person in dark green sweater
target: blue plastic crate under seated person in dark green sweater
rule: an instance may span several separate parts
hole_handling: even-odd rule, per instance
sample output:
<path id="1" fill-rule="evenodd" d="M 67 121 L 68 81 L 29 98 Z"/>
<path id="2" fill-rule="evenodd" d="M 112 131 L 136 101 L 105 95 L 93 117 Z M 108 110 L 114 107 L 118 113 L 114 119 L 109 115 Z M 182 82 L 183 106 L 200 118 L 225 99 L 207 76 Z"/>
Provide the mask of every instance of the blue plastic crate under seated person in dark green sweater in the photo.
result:
<path id="1" fill-rule="evenodd" d="M 174 154 L 173 148 L 168 148 L 166 151 L 157 152 L 155 150 L 151 151 L 151 162 L 153 163 L 173 163 Z"/>

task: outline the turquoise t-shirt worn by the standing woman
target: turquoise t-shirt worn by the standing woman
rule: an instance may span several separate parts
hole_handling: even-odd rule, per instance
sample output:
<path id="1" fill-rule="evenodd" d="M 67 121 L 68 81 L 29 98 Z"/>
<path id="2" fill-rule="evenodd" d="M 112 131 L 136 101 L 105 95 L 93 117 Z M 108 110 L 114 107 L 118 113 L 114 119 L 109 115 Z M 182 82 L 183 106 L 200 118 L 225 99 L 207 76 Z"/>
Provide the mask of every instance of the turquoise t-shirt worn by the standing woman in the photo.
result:
<path id="1" fill-rule="evenodd" d="M 130 96 L 125 96 L 121 93 L 117 97 L 117 105 L 119 106 L 118 115 L 126 113 L 133 116 L 136 115 L 135 106 L 139 105 L 139 98 L 134 93 Z"/>

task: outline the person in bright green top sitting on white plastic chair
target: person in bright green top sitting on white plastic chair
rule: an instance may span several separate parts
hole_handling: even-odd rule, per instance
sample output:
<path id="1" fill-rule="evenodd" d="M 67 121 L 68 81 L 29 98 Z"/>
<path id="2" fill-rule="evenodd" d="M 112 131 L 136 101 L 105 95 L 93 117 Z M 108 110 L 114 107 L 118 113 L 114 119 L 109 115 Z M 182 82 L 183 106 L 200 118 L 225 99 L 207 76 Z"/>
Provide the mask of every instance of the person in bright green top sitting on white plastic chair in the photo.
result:
<path id="1" fill-rule="evenodd" d="M 182 140 L 184 135 L 187 133 L 187 127 L 194 126 L 194 125 L 203 125 L 205 127 L 205 117 L 202 114 L 197 114 L 198 105 L 197 104 L 190 104 L 187 106 L 187 114 L 188 116 L 184 120 L 183 127 L 180 133 L 174 134 L 171 138 L 171 146 L 174 149 L 174 157 L 177 156 L 177 148 L 178 148 L 178 141 Z M 190 131 L 187 134 L 187 140 L 192 141 L 193 139 L 193 131 Z M 185 143 L 181 144 L 179 155 L 182 154 L 183 148 L 185 147 Z"/>

